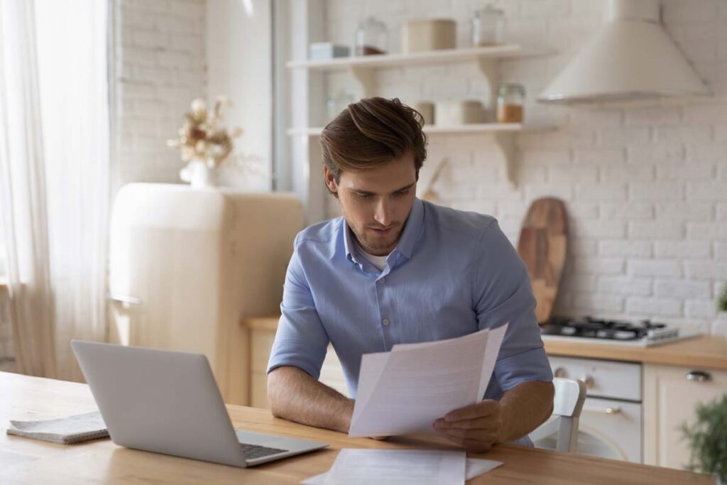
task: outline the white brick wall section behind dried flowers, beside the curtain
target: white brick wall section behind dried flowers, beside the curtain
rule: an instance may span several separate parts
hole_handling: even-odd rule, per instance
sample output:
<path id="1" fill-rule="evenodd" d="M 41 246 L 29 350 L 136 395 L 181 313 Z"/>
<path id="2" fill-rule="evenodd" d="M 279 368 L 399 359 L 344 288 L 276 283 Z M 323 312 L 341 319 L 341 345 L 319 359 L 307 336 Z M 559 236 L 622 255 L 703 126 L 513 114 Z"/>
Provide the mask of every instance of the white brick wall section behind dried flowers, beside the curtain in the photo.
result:
<path id="1" fill-rule="evenodd" d="M 206 97 L 205 0 L 117 0 L 117 151 L 112 193 L 129 182 L 178 183 L 179 152 L 166 147 L 195 97 Z"/>

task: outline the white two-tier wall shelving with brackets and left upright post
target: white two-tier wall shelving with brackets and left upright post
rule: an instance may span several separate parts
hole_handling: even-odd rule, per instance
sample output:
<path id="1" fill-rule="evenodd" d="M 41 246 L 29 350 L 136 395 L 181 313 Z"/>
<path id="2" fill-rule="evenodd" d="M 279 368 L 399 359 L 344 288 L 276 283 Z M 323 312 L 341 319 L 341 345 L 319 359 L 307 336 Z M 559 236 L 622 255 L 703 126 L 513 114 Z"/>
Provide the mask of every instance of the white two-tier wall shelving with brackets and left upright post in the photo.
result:
<path id="1" fill-rule="evenodd" d="M 306 30 L 300 31 L 296 37 L 297 45 L 310 45 L 311 41 L 320 38 L 321 19 L 310 17 Z M 301 49 L 302 50 L 302 49 Z M 300 52 L 297 50 L 297 52 Z M 302 54 L 302 52 L 300 52 Z M 325 217 L 325 197 L 328 193 L 322 180 L 310 177 L 319 170 L 321 146 L 311 143 L 313 138 L 321 135 L 323 107 L 326 103 L 326 75 L 344 73 L 347 76 L 350 90 L 356 97 L 373 97 L 381 94 L 379 85 L 382 78 L 379 72 L 387 69 L 401 69 L 415 66 L 446 66 L 469 63 L 474 68 L 476 91 L 479 93 L 486 110 L 494 112 L 497 105 L 499 89 L 499 62 L 501 60 L 529 59 L 547 57 L 556 52 L 539 45 L 523 46 L 520 44 L 501 44 L 487 47 L 467 47 L 462 49 L 440 49 L 429 52 L 390 53 L 383 55 L 336 57 L 326 60 L 289 60 L 285 68 L 292 79 L 292 96 L 294 100 L 290 116 L 298 127 L 286 129 L 285 134 L 291 140 L 292 157 L 295 167 L 302 171 L 302 177 L 296 180 L 295 191 L 300 193 L 306 205 L 306 216 L 309 222 L 318 222 Z M 436 84 L 436 79 L 431 82 Z M 423 100 L 423 99 L 420 99 Z M 429 100 L 433 101 L 433 100 Z M 302 125 L 302 126 L 301 126 Z M 493 164 L 502 164 L 504 177 L 510 187 L 515 187 L 515 137 L 521 132 L 550 130 L 554 127 L 534 127 L 522 124 L 468 124 L 451 127 L 425 126 L 424 131 L 431 137 L 438 136 L 476 136 L 481 137 L 493 148 L 491 156 Z M 300 162 L 300 165 L 299 165 Z M 434 161 L 432 162 L 434 163 Z M 431 166 L 431 164 L 430 164 Z"/>

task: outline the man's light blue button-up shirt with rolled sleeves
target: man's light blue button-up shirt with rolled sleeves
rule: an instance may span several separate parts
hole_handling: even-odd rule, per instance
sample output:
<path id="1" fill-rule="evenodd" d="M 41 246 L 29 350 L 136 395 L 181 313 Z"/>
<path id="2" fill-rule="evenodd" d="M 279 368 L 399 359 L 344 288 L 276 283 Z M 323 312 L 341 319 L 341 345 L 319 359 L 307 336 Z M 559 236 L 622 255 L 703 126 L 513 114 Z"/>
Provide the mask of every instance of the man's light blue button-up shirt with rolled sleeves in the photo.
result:
<path id="1" fill-rule="evenodd" d="M 553 380 L 527 269 L 494 217 L 415 199 L 386 262 L 379 271 L 358 254 L 342 217 L 300 232 L 268 372 L 296 366 L 318 379 L 330 342 L 356 398 L 364 353 L 509 321 L 484 397 Z"/>

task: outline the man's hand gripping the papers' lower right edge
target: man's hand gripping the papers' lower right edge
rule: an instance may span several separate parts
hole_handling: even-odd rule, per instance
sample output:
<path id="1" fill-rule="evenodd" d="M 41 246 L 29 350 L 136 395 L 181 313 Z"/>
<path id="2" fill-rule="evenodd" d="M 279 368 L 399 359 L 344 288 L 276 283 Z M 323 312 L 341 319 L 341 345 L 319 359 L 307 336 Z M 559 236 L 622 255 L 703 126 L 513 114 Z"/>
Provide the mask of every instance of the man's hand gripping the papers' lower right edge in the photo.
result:
<path id="1" fill-rule="evenodd" d="M 468 452 L 483 453 L 502 441 L 502 405 L 485 399 L 449 412 L 436 420 L 433 428 Z"/>

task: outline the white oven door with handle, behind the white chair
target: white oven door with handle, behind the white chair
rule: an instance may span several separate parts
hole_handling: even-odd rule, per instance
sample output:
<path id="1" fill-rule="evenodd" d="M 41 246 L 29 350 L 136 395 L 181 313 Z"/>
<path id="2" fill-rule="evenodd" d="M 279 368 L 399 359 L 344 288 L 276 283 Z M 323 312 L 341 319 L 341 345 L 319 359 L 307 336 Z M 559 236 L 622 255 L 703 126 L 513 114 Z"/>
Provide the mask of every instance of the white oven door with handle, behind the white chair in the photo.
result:
<path id="1" fill-rule="evenodd" d="M 535 446 L 555 449 L 555 433 L 538 439 Z M 586 398 L 578 425 L 578 453 L 640 463 L 641 404 Z"/>

